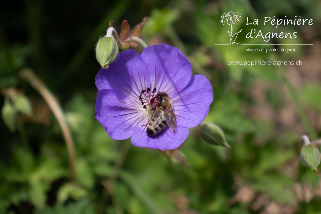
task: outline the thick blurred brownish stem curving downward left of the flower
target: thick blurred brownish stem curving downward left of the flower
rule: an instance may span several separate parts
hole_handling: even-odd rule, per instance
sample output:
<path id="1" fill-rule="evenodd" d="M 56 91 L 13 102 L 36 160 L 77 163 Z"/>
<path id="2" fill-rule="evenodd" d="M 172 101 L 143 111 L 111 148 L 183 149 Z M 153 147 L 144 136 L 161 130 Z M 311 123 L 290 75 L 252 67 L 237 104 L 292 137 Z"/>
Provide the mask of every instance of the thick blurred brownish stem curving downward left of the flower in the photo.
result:
<path id="1" fill-rule="evenodd" d="M 22 79 L 28 81 L 30 85 L 39 92 L 39 94 L 45 99 L 50 110 L 55 115 L 58 124 L 61 128 L 63 137 L 66 142 L 67 152 L 69 156 L 69 166 L 70 166 L 70 180 L 73 182 L 75 179 L 75 164 L 76 156 L 74 151 L 74 141 L 69 130 L 69 127 L 64 118 L 64 112 L 60 107 L 57 99 L 49 91 L 44 83 L 29 69 L 23 69 L 19 72 L 19 75 Z"/>

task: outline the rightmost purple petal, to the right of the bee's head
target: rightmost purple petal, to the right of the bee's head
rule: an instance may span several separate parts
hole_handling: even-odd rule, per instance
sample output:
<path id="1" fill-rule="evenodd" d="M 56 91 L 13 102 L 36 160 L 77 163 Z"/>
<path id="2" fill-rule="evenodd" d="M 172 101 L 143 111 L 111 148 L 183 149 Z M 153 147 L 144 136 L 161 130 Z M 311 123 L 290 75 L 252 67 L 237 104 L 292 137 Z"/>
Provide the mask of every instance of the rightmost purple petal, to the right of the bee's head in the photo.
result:
<path id="1" fill-rule="evenodd" d="M 171 99 L 177 123 L 195 127 L 205 119 L 213 102 L 212 85 L 203 75 L 192 76 L 186 88 Z"/>

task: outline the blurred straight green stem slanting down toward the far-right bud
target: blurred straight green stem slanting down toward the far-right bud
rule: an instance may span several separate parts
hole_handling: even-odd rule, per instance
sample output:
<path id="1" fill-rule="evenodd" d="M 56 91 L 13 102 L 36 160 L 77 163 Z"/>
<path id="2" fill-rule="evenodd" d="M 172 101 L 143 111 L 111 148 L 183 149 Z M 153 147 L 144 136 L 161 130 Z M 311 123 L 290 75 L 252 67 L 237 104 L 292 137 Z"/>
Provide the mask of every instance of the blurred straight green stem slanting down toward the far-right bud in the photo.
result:
<path id="1" fill-rule="evenodd" d="M 288 91 L 290 93 L 291 99 L 297 109 L 297 112 L 299 114 L 299 117 L 300 117 L 302 123 L 304 124 L 304 126 L 310 136 L 310 139 L 316 139 L 317 134 L 315 133 L 315 131 L 309 121 L 308 116 L 305 114 L 302 106 L 300 105 L 299 96 L 297 95 L 296 91 L 292 87 L 291 83 L 289 82 L 289 80 L 287 79 L 285 74 L 280 69 L 278 69 L 278 71 L 281 75 L 283 83 L 285 84 L 286 88 L 288 89 Z"/>

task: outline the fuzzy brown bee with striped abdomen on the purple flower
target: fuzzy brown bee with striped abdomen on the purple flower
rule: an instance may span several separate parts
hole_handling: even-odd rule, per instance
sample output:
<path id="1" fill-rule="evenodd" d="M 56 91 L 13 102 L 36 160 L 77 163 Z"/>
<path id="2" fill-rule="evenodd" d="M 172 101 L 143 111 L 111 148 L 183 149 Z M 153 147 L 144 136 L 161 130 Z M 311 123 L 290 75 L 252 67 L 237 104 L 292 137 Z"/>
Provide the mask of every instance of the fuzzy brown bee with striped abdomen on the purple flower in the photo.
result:
<path id="1" fill-rule="evenodd" d="M 156 105 L 147 126 L 147 135 L 154 136 L 160 133 L 168 124 L 175 132 L 176 115 L 172 108 L 172 101 L 165 92 L 158 92 L 161 98 L 160 104 Z"/>

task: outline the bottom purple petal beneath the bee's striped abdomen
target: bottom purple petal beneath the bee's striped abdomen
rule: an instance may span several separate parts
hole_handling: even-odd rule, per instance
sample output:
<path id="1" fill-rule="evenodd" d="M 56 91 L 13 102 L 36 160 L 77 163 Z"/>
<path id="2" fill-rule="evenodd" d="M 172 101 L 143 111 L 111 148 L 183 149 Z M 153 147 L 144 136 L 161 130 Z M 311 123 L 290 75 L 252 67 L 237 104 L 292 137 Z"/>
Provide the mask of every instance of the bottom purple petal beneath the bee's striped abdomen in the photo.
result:
<path id="1" fill-rule="evenodd" d="M 172 150 L 178 148 L 187 139 L 189 130 L 177 126 L 174 131 L 167 126 L 155 136 L 147 136 L 147 125 L 142 127 L 136 126 L 131 141 L 134 146 L 146 147 L 151 149 Z"/>

